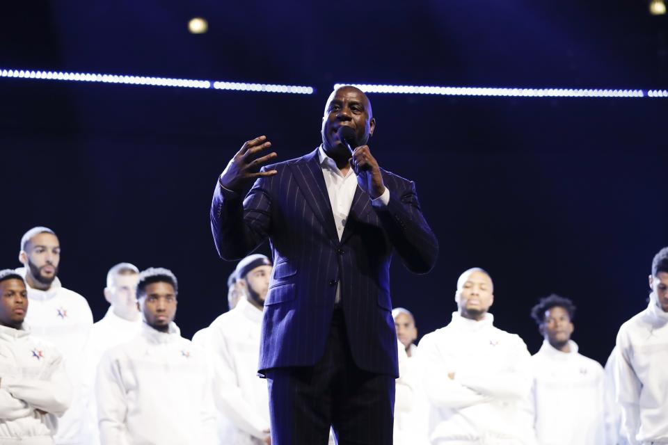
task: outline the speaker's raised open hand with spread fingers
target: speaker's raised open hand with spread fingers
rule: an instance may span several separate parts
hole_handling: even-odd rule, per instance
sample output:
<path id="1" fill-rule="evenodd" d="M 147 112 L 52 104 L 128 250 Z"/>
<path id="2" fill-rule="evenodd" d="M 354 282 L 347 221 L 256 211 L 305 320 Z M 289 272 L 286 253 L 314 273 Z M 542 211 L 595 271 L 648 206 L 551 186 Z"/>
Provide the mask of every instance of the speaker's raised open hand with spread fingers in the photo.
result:
<path id="1" fill-rule="evenodd" d="M 253 181 L 259 177 L 276 175 L 276 170 L 260 172 L 260 167 L 278 156 L 276 152 L 271 152 L 260 156 L 255 155 L 271 147 L 271 142 L 267 136 L 259 136 L 253 140 L 248 140 L 241 149 L 234 155 L 228 166 L 225 167 L 219 179 L 221 186 L 228 190 L 242 193 L 246 188 L 253 184 Z"/>

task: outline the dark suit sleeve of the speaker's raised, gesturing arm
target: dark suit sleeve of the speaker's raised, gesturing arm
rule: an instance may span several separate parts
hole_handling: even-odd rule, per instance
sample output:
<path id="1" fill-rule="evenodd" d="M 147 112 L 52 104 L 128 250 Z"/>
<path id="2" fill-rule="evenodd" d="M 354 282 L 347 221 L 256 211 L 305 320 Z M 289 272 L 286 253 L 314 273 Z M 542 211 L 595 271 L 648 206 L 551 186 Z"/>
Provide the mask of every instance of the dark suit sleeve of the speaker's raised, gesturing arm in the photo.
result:
<path id="1" fill-rule="evenodd" d="M 262 168 L 264 170 L 264 167 Z M 271 177 L 255 181 L 246 199 L 216 184 L 211 203 L 211 229 L 218 255 L 233 260 L 245 257 L 271 230 Z"/>

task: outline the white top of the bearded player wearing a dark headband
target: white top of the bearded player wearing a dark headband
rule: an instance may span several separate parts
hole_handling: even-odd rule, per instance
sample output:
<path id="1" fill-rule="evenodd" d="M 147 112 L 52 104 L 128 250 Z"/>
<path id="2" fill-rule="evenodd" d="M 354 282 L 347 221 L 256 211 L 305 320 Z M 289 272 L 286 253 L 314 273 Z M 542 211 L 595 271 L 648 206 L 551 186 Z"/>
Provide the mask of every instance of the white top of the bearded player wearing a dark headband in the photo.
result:
<path id="1" fill-rule="evenodd" d="M 261 444 L 269 436 L 267 382 L 257 376 L 261 333 L 262 310 L 243 298 L 207 330 L 216 407 L 236 427 L 224 444 Z"/>

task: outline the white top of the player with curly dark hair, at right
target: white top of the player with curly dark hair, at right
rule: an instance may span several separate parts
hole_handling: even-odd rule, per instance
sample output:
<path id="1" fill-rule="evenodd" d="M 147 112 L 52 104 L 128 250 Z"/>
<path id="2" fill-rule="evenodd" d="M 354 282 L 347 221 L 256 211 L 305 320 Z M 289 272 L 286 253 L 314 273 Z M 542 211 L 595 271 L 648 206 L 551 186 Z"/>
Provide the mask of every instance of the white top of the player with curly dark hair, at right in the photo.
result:
<path id="1" fill-rule="evenodd" d="M 534 387 L 530 407 L 540 445 L 606 445 L 603 366 L 578 353 L 543 341 L 531 357 Z"/>

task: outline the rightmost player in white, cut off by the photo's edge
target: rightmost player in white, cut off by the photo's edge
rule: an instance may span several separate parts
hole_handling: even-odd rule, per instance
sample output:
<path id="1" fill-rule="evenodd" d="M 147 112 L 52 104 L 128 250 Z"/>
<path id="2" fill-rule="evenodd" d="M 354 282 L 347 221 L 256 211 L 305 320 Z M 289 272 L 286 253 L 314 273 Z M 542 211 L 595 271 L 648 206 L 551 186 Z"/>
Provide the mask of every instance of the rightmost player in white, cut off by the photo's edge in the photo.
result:
<path id="1" fill-rule="evenodd" d="M 668 444 L 668 248 L 652 261 L 649 305 L 621 325 L 614 359 L 629 444 Z"/>

